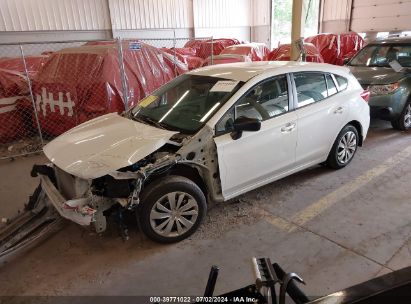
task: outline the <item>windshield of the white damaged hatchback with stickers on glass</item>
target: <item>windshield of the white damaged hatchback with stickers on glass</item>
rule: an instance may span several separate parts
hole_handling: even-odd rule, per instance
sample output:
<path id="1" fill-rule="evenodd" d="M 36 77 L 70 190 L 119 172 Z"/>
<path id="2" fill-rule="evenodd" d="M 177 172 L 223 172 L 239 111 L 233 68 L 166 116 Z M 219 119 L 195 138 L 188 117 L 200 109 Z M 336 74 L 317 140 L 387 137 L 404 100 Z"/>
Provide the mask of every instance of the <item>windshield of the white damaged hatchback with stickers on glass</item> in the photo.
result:
<path id="1" fill-rule="evenodd" d="M 244 84 L 210 76 L 184 74 L 131 109 L 135 120 L 193 134 Z"/>

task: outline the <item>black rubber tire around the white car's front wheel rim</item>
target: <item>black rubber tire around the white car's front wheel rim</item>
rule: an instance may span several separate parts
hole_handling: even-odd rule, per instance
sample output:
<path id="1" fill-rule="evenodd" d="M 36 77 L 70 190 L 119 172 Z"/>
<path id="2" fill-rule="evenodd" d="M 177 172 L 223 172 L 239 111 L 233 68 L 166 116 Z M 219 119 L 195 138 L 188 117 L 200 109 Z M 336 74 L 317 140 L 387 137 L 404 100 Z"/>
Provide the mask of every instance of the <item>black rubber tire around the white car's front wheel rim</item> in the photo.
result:
<path id="1" fill-rule="evenodd" d="M 185 208 L 190 204 L 197 206 L 186 211 L 174 211 L 197 212 L 197 215 L 183 216 L 182 214 L 172 214 L 172 219 L 174 221 L 174 224 L 172 224 L 171 227 L 172 230 L 178 230 L 177 224 L 180 228 L 184 226 L 182 221 L 184 219 L 190 222 L 194 220 L 194 224 L 181 234 L 179 234 L 178 231 L 175 231 L 175 233 L 165 235 L 166 232 L 158 232 L 152 226 L 157 225 L 157 227 L 159 227 L 164 224 L 165 221 L 167 221 L 167 218 L 151 219 L 150 216 L 152 212 L 153 214 L 161 213 L 163 216 L 166 214 L 171 214 L 164 213 L 164 210 L 158 209 L 159 205 L 157 203 L 159 203 L 161 206 L 163 206 L 164 204 L 167 209 L 172 209 L 169 202 L 169 197 L 167 195 L 170 195 L 171 197 L 173 197 L 174 195 L 174 204 L 178 204 L 180 195 L 182 195 L 183 198 L 181 199 L 181 208 Z M 167 196 L 167 198 L 165 196 Z M 194 203 L 192 199 L 194 199 Z M 141 203 L 137 210 L 137 218 L 139 220 L 141 230 L 148 238 L 160 243 L 175 243 L 189 237 L 197 230 L 207 213 L 206 198 L 200 187 L 192 180 L 176 175 L 165 176 L 163 178 L 159 178 L 156 181 L 153 181 L 148 185 L 146 189 L 143 190 L 140 202 Z M 154 207 L 154 205 L 156 205 L 156 207 Z M 170 220 L 168 222 L 170 222 Z M 166 228 L 167 226 L 168 224 L 166 224 L 164 228 Z M 187 228 L 187 226 L 184 226 L 184 229 L 185 228 Z"/>

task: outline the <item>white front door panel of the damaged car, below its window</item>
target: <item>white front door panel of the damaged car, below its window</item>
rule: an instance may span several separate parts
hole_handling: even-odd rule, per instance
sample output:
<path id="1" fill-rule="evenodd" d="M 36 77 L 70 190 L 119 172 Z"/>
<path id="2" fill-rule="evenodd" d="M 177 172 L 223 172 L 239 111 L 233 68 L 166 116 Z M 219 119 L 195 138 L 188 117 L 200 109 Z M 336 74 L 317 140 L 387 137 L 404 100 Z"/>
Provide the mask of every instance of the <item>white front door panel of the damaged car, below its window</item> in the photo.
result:
<path id="1" fill-rule="evenodd" d="M 281 129 L 288 123 L 297 124 L 295 112 L 263 121 L 260 131 L 244 132 L 238 140 L 233 140 L 230 134 L 214 139 L 225 199 L 255 188 L 293 167 L 297 126 L 283 132 Z"/>

